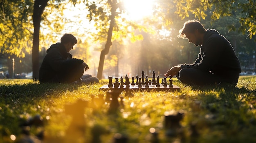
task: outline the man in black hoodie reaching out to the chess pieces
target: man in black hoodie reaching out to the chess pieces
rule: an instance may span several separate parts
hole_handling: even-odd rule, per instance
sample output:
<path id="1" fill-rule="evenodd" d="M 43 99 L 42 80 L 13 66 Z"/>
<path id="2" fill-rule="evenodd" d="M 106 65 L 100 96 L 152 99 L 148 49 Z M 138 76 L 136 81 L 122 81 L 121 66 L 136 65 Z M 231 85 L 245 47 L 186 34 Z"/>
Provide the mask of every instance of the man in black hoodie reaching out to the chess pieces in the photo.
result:
<path id="1" fill-rule="evenodd" d="M 240 62 L 229 41 L 214 29 L 204 29 L 196 20 L 189 20 L 180 29 L 183 39 L 200 45 L 200 53 L 193 64 L 180 64 L 168 70 L 165 76 L 176 75 L 188 85 L 229 83 L 236 86 L 241 72 Z"/>

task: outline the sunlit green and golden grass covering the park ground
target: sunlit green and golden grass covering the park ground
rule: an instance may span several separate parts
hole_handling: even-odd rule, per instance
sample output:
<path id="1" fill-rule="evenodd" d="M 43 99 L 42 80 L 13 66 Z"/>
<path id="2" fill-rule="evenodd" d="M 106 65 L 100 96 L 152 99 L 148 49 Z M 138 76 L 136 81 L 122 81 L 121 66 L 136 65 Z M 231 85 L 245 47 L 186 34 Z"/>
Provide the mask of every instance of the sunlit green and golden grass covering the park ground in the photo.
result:
<path id="1" fill-rule="evenodd" d="M 102 108 L 85 108 L 81 132 L 67 132 L 74 117 L 68 113 L 83 109 L 67 105 L 77 105 L 78 99 L 90 103 L 91 95 L 106 97 L 106 92 L 99 91 L 104 84 L 108 80 L 94 85 L 0 80 L 0 143 L 25 143 L 25 139 L 36 142 L 41 132 L 45 143 L 112 143 L 117 133 L 126 136 L 128 143 L 153 143 L 150 131 L 154 130 L 158 133 L 155 143 L 256 141 L 256 76 L 240 77 L 234 88 L 191 87 L 174 79 L 173 84 L 181 88 L 179 92 L 134 92 L 134 97 L 124 97 L 124 108 L 115 114 L 108 113 L 109 103 Z M 184 113 L 181 127 L 166 136 L 170 130 L 165 128 L 164 115 L 177 112 Z M 35 116 L 42 117 L 43 123 L 24 125 Z"/>

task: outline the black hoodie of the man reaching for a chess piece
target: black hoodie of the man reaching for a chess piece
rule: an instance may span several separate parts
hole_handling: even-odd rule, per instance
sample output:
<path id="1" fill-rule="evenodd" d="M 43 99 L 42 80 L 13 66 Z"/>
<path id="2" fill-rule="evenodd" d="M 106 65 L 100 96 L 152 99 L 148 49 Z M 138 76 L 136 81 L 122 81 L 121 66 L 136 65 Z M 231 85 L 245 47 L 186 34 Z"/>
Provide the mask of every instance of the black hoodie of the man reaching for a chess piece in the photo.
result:
<path id="1" fill-rule="evenodd" d="M 198 58 L 193 64 L 182 64 L 182 68 L 196 68 L 234 81 L 241 73 L 240 62 L 229 41 L 214 29 L 207 29 Z"/>

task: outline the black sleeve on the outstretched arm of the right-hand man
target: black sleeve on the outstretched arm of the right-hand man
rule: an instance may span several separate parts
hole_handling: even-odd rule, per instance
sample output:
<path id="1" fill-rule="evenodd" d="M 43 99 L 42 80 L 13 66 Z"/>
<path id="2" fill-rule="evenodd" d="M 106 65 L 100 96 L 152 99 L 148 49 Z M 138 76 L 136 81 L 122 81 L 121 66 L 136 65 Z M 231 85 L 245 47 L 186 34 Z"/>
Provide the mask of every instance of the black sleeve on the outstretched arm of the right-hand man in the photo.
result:
<path id="1" fill-rule="evenodd" d="M 198 59 L 194 64 L 182 64 L 182 68 L 196 68 L 204 71 L 210 71 L 211 68 L 218 64 L 220 55 L 222 54 L 222 39 L 219 37 L 211 37 L 204 42 L 204 53 L 201 53 L 202 57 L 198 55 Z M 200 58 L 201 57 L 201 58 Z"/>

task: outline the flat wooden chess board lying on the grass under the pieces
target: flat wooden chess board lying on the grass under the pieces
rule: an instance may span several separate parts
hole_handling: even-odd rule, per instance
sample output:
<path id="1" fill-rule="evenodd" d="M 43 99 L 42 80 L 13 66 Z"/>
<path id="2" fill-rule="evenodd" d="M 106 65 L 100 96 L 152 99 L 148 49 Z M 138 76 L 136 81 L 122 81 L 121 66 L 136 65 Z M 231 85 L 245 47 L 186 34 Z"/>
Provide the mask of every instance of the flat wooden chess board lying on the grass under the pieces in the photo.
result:
<path id="1" fill-rule="evenodd" d="M 149 85 L 148 88 L 146 88 L 145 86 L 142 86 L 141 88 L 139 88 L 137 85 L 130 85 L 129 88 L 126 88 L 126 86 L 124 86 L 124 88 L 109 88 L 108 84 L 105 84 L 103 86 L 101 86 L 101 88 L 99 88 L 102 91 L 107 91 L 107 90 L 121 90 L 121 91 L 125 91 L 125 90 L 130 90 L 130 91 L 151 91 L 151 90 L 155 90 L 155 91 L 179 91 L 180 88 L 178 86 L 173 85 L 173 87 L 169 87 L 167 85 L 167 87 L 164 87 L 162 84 L 160 85 L 160 87 L 156 87 L 155 85 Z"/>

